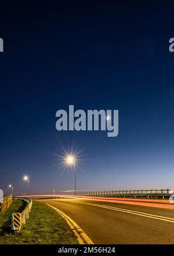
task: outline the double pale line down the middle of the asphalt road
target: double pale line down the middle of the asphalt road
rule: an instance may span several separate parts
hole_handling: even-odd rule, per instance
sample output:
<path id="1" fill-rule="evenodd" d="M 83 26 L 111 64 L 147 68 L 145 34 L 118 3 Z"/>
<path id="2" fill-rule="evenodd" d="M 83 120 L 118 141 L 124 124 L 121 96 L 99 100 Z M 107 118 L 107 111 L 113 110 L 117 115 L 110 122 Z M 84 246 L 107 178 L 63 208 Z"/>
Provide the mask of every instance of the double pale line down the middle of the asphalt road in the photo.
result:
<path id="1" fill-rule="evenodd" d="M 168 217 L 165 217 L 165 216 L 147 214 L 146 212 L 137 212 L 137 211 L 122 209 L 122 208 L 117 208 L 117 207 L 110 207 L 110 206 L 101 205 L 101 204 L 90 204 L 89 202 L 82 202 L 81 204 L 92 205 L 92 206 L 96 206 L 96 207 L 111 209 L 111 210 L 114 210 L 114 211 L 126 212 L 128 214 L 140 215 L 140 216 L 151 218 L 151 219 L 159 219 L 160 221 L 167 221 L 167 222 L 173 222 L 174 223 L 174 218 L 168 218 Z"/>

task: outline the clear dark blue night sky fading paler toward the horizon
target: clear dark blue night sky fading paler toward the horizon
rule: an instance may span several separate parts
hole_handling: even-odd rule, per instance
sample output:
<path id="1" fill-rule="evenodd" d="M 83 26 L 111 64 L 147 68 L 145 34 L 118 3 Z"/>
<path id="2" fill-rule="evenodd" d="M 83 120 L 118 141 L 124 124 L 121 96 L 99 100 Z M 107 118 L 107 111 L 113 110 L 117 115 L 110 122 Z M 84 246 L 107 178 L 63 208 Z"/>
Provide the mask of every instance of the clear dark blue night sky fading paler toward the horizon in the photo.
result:
<path id="1" fill-rule="evenodd" d="M 0 188 L 173 188 L 173 4 L 2 6 Z M 119 134 L 57 131 L 56 111 L 118 109 Z"/>

